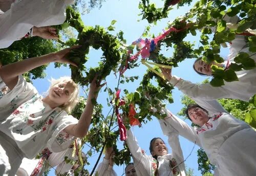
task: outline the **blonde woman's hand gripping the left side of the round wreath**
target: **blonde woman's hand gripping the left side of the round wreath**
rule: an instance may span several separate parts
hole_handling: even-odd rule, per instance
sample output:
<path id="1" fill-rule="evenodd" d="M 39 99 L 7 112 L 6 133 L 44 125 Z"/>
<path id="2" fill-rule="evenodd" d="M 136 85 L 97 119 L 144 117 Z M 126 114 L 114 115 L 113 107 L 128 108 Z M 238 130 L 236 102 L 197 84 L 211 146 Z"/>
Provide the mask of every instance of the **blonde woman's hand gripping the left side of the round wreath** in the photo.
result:
<path id="1" fill-rule="evenodd" d="M 61 51 L 58 51 L 56 53 L 54 53 L 54 62 L 58 62 L 58 63 L 64 63 L 64 64 L 71 64 L 71 65 L 74 65 L 77 67 L 77 64 L 70 61 L 67 56 L 69 54 L 70 51 L 72 51 L 72 49 L 75 49 L 75 48 L 79 48 L 80 45 L 74 45 L 72 47 L 69 47 L 69 48 L 65 48 L 65 49 L 62 49 Z"/>

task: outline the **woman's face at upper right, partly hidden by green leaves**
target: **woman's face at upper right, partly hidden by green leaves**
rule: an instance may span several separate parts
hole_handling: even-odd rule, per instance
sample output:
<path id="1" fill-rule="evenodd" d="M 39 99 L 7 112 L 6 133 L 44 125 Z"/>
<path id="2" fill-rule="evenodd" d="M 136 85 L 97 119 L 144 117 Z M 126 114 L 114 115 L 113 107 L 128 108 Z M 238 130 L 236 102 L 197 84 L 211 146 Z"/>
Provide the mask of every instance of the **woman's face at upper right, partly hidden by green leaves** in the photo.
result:
<path id="1" fill-rule="evenodd" d="M 193 64 L 193 68 L 194 70 L 202 75 L 202 76 L 211 76 L 212 75 L 212 71 L 211 71 L 211 65 L 212 63 L 206 63 L 202 60 L 202 58 L 198 58 L 194 64 Z"/>

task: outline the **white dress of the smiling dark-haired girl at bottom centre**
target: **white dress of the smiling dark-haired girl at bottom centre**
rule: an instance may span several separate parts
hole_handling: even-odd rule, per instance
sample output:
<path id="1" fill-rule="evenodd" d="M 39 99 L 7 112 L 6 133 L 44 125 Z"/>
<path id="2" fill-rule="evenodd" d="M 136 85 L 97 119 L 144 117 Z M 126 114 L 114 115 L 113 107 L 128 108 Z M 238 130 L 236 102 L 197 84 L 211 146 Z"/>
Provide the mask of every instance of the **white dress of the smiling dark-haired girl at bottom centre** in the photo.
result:
<path id="1" fill-rule="evenodd" d="M 136 170 L 137 175 L 141 176 L 140 173 L 142 173 L 143 176 L 153 176 L 154 175 L 154 168 L 157 167 L 156 163 L 154 162 L 154 158 L 152 155 L 148 156 L 145 153 L 142 152 L 140 146 L 138 145 L 138 141 L 136 137 L 133 135 L 131 129 L 127 131 L 127 139 L 126 139 L 127 145 L 129 146 L 130 152 L 133 156 L 133 158 L 136 160 L 134 168 Z M 179 141 L 178 141 L 179 144 Z M 176 148 L 172 148 L 173 153 Z M 180 152 L 180 150 L 178 151 Z M 177 154 L 176 154 L 177 155 Z M 182 153 L 180 154 L 182 155 Z M 167 154 L 164 156 L 158 156 L 158 173 L 159 176 L 165 176 L 165 175 L 174 175 L 172 169 L 169 166 L 169 162 L 173 161 L 174 155 Z M 175 158 L 176 159 L 176 158 Z M 177 164 L 179 165 L 178 161 Z M 182 163 L 181 165 L 183 165 Z M 185 175 L 185 171 L 183 170 L 184 167 L 178 166 L 178 169 L 180 170 L 180 176 Z"/>

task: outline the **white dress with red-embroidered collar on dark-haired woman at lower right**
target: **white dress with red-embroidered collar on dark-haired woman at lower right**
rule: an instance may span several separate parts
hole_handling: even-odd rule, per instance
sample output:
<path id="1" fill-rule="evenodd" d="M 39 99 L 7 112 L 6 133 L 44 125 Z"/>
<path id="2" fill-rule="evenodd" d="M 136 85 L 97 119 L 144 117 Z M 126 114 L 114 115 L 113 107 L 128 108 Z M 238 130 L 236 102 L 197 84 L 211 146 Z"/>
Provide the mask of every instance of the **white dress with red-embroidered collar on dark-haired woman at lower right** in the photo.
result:
<path id="1" fill-rule="evenodd" d="M 200 105 L 202 103 L 201 101 Z M 213 105 L 215 110 L 218 110 L 217 104 Z M 211 106 L 205 109 L 213 115 L 201 128 L 189 127 L 187 123 L 169 112 L 168 117 L 163 120 L 166 125 L 161 125 L 162 130 L 165 134 L 177 132 L 202 147 L 211 164 L 216 165 L 215 175 L 255 175 L 256 132 L 247 123 L 222 112 L 223 108 L 215 113 Z"/>

